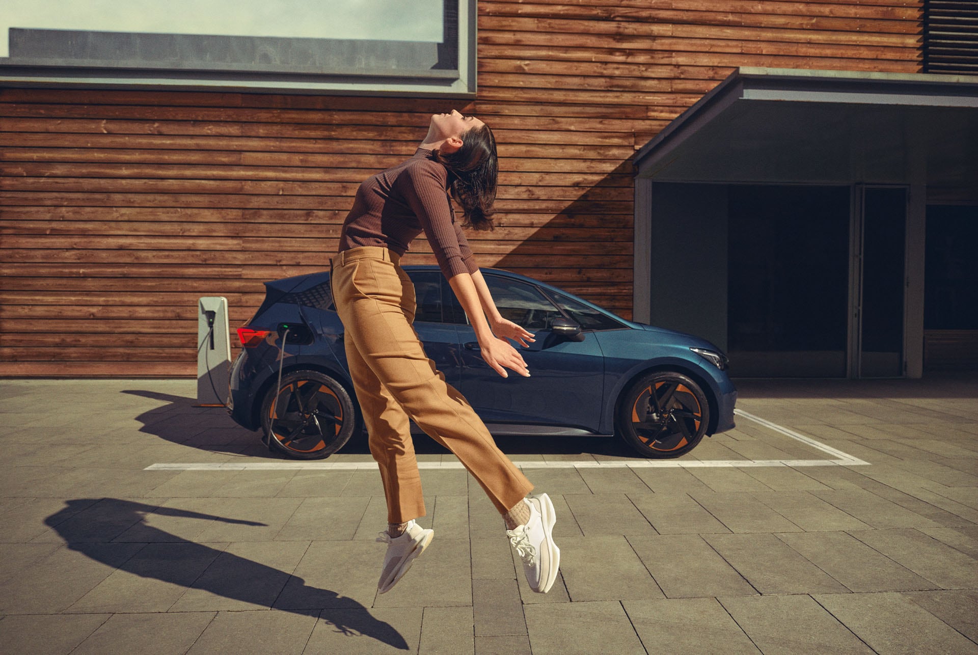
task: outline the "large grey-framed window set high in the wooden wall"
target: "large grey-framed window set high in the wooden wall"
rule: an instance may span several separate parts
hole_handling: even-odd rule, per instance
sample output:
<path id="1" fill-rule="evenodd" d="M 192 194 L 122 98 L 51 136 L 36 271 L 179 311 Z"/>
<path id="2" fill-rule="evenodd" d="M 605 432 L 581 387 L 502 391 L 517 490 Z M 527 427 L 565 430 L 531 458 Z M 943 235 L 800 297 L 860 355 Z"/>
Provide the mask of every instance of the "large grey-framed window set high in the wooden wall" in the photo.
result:
<path id="1" fill-rule="evenodd" d="M 475 0 L 6 0 L 0 72 L 56 86 L 474 96 L 475 28 Z"/>

